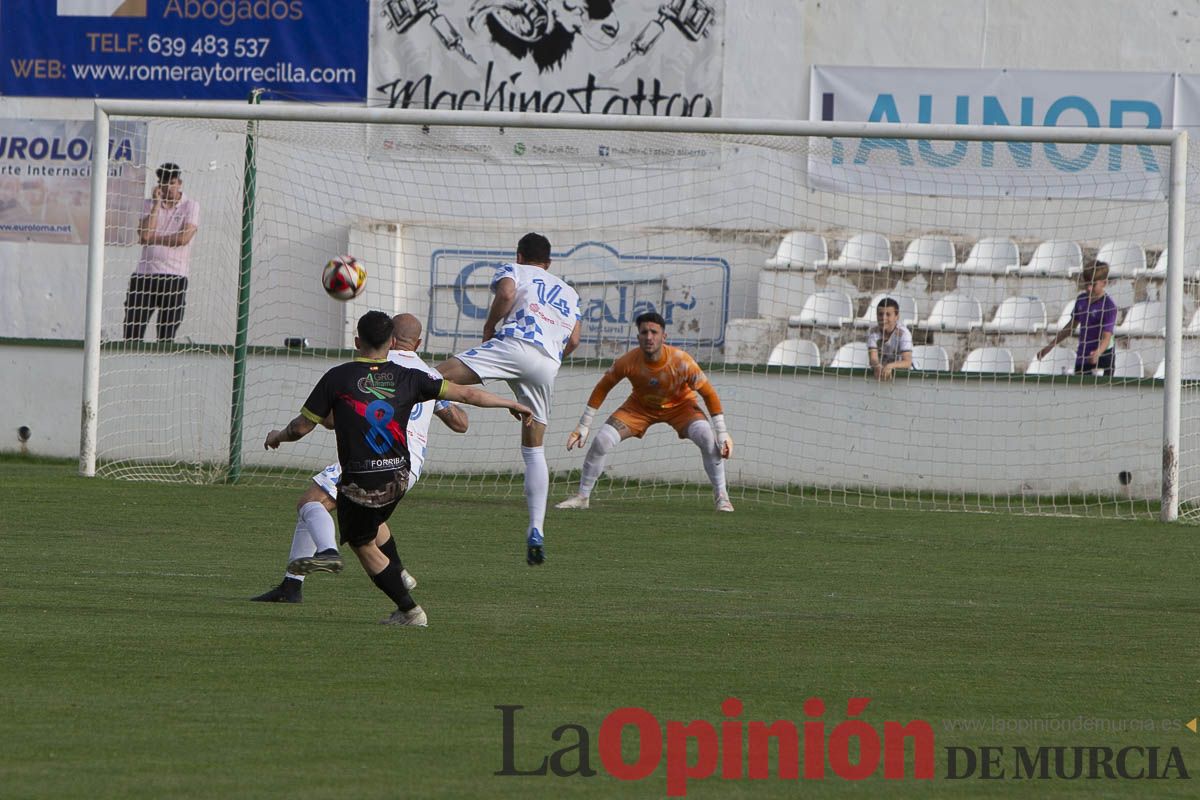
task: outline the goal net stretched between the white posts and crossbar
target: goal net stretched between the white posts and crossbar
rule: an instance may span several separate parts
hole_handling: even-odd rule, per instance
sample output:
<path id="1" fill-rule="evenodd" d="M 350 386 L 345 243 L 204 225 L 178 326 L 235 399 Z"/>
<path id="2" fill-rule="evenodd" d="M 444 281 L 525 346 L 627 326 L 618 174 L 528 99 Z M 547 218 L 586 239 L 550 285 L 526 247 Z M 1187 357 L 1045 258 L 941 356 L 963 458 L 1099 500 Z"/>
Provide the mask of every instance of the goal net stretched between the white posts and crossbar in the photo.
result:
<path id="1" fill-rule="evenodd" d="M 434 366 L 479 343 L 491 276 L 535 230 L 583 315 L 546 437 L 552 501 L 575 489 L 583 457 L 566 437 L 602 372 L 636 347 L 643 311 L 666 318 L 667 342 L 720 393 L 734 499 L 1152 516 L 1164 452 L 1177 461 L 1166 473 L 1183 517 L 1200 494 L 1189 383 L 1200 350 L 1186 335 L 1181 433 L 1164 447 L 1169 278 L 1186 278 L 1180 331 L 1200 266 L 1193 247 L 1168 253 L 1183 204 L 1169 201 L 1165 134 L 947 140 L 910 126 L 906 138 L 856 138 L 820 124 L 684 132 L 662 120 L 559 130 L 522 115 L 464 125 L 454 114 L 294 112 L 320 118 L 305 120 L 268 107 L 256 108 L 271 119 L 247 122 L 154 108 L 112 114 L 114 130 L 144 124 L 149 145 L 145 163 L 114 160 L 109 172 L 136 167 L 146 181 L 136 197 L 109 192 L 107 243 L 92 258 L 103 279 L 85 473 L 94 456 L 109 477 L 300 486 L 336 461 L 334 437 L 318 429 L 278 451 L 263 439 L 349 357 L 358 317 L 415 314 Z M 139 337 L 131 305 L 170 305 L 134 299 L 148 269 L 139 227 L 163 163 L 179 166 L 198 218 L 186 248 L 162 247 L 174 271 L 186 269 L 178 330 L 160 325 L 169 308 L 151 307 Z M 1196 185 L 1190 170 L 1187 182 Z M 181 205 L 167 212 L 187 217 Z M 343 253 L 368 273 L 349 302 L 320 285 L 323 265 Z M 1081 291 L 1080 319 L 1105 307 L 1081 284 L 1097 260 L 1117 308 L 1114 351 L 1096 365 L 1085 353 L 1078 369 L 1072 335 L 1038 357 L 1072 326 Z M 890 380 L 876 378 L 866 348 L 884 297 L 914 361 Z M 884 331 L 883 356 L 900 338 Z M 622 384 L 608 395 L 593 432 L 628 393 Z M 85 419 L 86 409 L 85 397 Z M 516 425 L 468 411 L 466 434 L 433 423 L 422 481 L 520 493 Z M 612 451 L 593 498 L 709 492 L 696 447 L 658 425 Z"/>

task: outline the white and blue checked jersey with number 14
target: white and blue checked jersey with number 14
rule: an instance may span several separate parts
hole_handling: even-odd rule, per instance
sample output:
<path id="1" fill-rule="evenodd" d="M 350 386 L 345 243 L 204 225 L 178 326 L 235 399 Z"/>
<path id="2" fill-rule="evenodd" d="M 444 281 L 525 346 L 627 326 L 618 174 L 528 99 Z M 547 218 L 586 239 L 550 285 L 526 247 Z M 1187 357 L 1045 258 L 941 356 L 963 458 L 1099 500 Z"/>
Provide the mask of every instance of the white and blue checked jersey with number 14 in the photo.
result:
<path id="1" fill-rule="evenodd" d="M 580 321 L 580 295 L 557 275 L 528 264 L 502 264 L 492 276 L 492 291 L 509 278 L 517 284 L 516 300 L 500 324 L 496 338 L 536 344 L 557 363 L 563 348 Z"/>

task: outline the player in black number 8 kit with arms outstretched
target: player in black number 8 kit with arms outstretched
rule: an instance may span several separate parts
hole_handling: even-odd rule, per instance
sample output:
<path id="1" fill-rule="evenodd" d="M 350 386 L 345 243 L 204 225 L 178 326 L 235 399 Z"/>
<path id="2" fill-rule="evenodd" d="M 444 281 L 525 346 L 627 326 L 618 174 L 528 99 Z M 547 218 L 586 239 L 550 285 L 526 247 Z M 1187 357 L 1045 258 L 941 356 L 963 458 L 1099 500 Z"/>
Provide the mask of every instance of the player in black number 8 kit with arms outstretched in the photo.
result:
<path id="1" fill-rule="evenodd" d="M 437 373 L 388 361 L 391 335 L 391 317 L 380 311 L 364 314 L 354 338 L 359 357 L 326 372 L 300 415 L 282 431 L 268 433 L 264 446 L 274 450 L 284 441 L 296 441 L 329 414 L 334 415 L 337 461 L 342 464 L 337 486 L 342 543 L 354 549 L 374 584 L 396 603 L 396 610 L 382 622 L 425 627 L 428 625 L 425 610 L 404 588 L 403 564 L 398 558 L 389 560 L 374 543 L 379 524 L 388 521 L 408 489 L 406 423 L 413 405 L 448 399 L 481 408 L 506 408 L 523 425 L 530 423 L 533 411 L 481 389 L 451 384 Z M 341 558 L 337 551 L 324 551 L 311 559 L 298 559 L 288 569 L 336 571 L 341 569 Z"/>

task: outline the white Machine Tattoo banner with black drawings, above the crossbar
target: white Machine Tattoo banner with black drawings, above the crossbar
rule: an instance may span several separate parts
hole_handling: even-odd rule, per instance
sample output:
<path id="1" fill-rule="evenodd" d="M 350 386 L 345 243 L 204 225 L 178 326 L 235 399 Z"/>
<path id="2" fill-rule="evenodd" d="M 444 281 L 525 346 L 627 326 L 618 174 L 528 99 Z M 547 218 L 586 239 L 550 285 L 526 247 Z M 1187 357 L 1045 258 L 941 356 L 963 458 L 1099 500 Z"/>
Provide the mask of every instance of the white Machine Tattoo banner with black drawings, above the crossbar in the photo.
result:
<path id="1" fill-rule="evenodd" d="M 724 0 L 372 0 L 367 103 L 719 116 Z"/>

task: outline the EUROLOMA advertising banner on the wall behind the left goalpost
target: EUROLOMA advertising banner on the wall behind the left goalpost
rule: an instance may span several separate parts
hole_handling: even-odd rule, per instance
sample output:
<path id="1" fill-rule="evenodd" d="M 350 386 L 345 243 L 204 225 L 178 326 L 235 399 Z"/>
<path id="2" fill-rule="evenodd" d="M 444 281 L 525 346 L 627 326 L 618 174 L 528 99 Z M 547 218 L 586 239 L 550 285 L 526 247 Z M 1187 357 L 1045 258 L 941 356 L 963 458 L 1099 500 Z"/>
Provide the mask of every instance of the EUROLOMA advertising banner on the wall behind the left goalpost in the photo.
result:
<path id="1" fill-rule="evenodd" d="M 91 120 L 0 120 L 0 241 L 86 243 Z M 114 122 L 108 140 L 108 230 L 137 231 L 145 194 L 146 124 Z"/>

